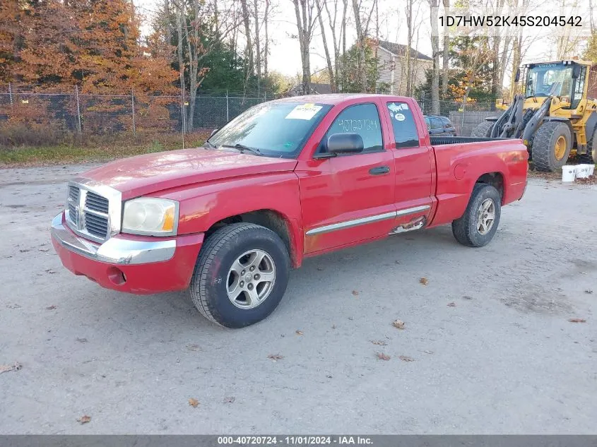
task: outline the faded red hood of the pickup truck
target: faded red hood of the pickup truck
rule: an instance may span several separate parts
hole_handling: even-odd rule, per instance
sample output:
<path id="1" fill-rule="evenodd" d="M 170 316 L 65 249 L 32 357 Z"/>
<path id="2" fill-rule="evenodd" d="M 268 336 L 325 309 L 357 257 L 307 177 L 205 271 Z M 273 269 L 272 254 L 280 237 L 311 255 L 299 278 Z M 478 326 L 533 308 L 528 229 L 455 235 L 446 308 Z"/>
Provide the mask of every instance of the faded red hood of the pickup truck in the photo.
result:
<path id="1" fill-rule="evenodd" d="M 297 160 L 192 148 L 138 155 L 107 163 L 81 177 L 112 186 L 122 198 L 133 198 L 205 181 L 267 172 L 292 171 Z"/>

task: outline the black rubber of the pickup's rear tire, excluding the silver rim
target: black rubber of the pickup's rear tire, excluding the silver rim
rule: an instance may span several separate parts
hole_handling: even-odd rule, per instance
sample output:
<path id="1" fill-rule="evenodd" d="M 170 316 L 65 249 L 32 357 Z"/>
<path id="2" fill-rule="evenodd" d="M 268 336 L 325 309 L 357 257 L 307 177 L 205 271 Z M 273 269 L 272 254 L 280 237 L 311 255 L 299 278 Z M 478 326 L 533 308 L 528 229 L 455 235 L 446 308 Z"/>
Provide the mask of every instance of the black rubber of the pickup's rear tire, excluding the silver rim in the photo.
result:
<path id="1" fill-rule="evenodd" d="M 478 229 L 478 210 L 487 199 L 491 199 L 493 202 L 495 219 L 489 230 L 482 234 Z M 463 216 L 452 222 L 452 233 L 456 240 L 463 245 L 475 247 L 487 245 L 493 239 L 497 226 L 500 225 L 501 211 L 502 196 L 497 189 L 488 184 L 475 184 Z"/>

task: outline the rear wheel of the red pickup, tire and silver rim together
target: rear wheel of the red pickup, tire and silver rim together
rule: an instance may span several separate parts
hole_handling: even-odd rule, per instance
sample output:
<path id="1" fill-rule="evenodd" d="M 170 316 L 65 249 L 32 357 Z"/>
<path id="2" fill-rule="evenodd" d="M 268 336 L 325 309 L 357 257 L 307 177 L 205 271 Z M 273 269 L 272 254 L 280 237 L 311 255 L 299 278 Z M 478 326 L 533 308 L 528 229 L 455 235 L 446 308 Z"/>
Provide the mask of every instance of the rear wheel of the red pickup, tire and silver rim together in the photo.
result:
<path id="1" fill-rule="evenodd" d="M 452 234 L 467 246 L 489 244 L 502 214 L 502 196 L 493 186 L 475 184 L 463 216 L 452 222 Z"/>

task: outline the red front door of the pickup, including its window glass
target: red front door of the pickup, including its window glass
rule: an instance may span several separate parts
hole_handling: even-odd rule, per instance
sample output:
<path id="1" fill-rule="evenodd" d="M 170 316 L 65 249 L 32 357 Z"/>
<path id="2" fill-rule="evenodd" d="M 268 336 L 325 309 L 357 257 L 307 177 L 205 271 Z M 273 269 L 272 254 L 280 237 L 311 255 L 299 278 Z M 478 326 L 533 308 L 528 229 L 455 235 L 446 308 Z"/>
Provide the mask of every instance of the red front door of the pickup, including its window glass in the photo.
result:
<path id="1" fill-rule="evenodd" d="M 345 107 L 322 142 L 333 133 L 358 133 L 361 153 L 313 160 L 299 176 L 305 254 L 316 254 L 387 235 L 394 226 L 394 155 L 384 147 L 375 102 Z M 387 139 L 387 138 L 386 138 Z"/>

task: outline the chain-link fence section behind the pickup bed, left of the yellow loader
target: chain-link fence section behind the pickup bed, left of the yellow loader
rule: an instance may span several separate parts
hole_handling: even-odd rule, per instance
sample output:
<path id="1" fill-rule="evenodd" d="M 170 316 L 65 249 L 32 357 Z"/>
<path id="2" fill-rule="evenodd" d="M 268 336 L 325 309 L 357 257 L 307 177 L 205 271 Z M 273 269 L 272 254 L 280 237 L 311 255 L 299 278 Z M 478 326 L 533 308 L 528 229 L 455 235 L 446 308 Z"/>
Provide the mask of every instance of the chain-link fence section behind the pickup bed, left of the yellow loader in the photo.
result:
<path id="1" fill-rule="evenodd" d="M 432 100 L 429 95 L 419 98 L 423 114 L 432 113 Z M 454 125 L 459 136 L 471 136 L 471 133 L 487 117 L 499 117 L 502 110 L 495 107 L 495 102 L 439 101 L 439 115 L 447 117 Z"/>

